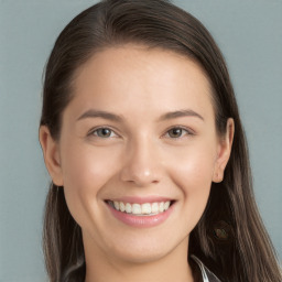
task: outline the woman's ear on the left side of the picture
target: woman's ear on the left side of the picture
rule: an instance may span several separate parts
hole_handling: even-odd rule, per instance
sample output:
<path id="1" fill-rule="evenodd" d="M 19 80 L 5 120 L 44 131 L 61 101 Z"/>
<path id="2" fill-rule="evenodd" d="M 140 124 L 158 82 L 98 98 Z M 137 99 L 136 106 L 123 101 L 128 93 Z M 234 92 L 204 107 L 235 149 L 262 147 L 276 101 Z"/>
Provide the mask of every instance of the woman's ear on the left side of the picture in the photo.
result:
<path id="1" fill-rule="evenodd" d="M 63 186 L 64 183 L 58 143 L 52 138 L 48 128 L 45 126 L 41 126 L 40 128 L 40 143 L 42 147 L 45 165 L 53 183 L 57 186 Z"/>

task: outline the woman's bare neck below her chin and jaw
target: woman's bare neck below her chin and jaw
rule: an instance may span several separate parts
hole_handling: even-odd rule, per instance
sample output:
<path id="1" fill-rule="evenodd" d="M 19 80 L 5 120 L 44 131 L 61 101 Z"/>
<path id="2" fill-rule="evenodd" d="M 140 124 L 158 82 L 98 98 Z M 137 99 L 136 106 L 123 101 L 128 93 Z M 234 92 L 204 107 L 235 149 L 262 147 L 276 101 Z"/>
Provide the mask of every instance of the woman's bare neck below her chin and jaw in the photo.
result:
<path id="1" fill-rule="evenodd" d="M 85 282 L 194 282 L 192 269 L 187 262 L 188 238 L 170 253 L 142 262 L 109 257 L 88 239 L 86 240 L 84 235 Z"/>

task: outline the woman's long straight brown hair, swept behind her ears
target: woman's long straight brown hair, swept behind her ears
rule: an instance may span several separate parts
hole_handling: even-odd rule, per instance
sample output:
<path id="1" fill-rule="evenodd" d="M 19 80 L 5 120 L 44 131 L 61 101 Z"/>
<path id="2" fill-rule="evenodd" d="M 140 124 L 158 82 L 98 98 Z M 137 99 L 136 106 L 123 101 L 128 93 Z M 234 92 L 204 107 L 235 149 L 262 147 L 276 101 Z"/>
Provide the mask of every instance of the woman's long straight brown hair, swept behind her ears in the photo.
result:
<path id="1" fill-rule="evenodd" d="M 221 281 L 282 281 L 254 203 L 246 137 L 225 59 L 209 32 L 189 13 L 164 0 L 105 0 L 78 14 L 59 34 L 48 58 L 41 126 L 58 140 L 75 70 L 95 52 L 126 43 L 173 51 L 197 62 L 210 79 L 218 134 L 225 134 L 229 117 L 235 120 L 225 178 L 212 184 L 207 207 L 191 234 L 188 254 L 198 257 Z M 64 188 L 54 184 L 46 199 L 43 248 L 51 282 L 85 280 L 82 229 L 68 212 Z"/>

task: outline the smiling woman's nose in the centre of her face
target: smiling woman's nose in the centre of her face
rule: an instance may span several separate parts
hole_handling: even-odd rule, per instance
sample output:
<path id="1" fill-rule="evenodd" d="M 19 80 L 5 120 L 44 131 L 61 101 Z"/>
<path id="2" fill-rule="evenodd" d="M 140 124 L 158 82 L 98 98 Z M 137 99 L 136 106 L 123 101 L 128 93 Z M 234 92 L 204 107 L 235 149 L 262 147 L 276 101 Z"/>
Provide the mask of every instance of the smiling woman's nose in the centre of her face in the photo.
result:
<path id="1" fill-rule="evenodd" d="M 148 140 L 127 149 L 121 181 L 139 187 L 156 184 L 161 180 L 161 158 Z"/>

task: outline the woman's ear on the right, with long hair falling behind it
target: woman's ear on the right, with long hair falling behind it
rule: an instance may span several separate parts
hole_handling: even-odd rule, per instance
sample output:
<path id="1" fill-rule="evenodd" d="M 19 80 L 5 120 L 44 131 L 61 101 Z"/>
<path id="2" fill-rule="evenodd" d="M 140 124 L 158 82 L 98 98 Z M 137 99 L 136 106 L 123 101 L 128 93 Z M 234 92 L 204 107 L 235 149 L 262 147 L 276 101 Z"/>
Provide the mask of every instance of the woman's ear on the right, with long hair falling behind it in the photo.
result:
<path id="1" fill-rule="evenodd" d="M 213 182 L 219 183 L 224 180 L 225 167 L 231 154 L 234 132 L 234 119 L 229 118 L 226 123 L 226 134 L 219 140 Z"/>

